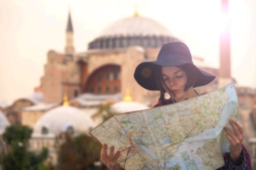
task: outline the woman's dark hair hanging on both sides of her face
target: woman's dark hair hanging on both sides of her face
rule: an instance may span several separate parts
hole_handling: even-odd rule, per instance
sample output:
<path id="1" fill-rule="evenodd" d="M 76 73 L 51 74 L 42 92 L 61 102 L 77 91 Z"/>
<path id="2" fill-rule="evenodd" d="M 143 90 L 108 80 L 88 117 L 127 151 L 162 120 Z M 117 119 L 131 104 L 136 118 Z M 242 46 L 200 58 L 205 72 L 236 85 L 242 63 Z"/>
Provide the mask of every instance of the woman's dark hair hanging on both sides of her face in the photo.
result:
<path id="1" fill-rule="evenodd" d="M 191 86 L 193 86 L 197 80 L 197 73 L 196 70 L 193 68 L 190 64 L 185 64 L 181 66 L 177 66 L 178 68 L 182 69 L 186 73 L 187 81 L 184 88 L 184 91 L 187 91 Z M 165 89 L 168 90 L 168 93 L 171 97 L 175 97 L 175 94 L 172 92 L 172 90 L 165 84 L 162 77 L 161 72 L 162 66 L 155 66 L 155 80 L 158 85 L 158 89 L 160 91 L 160 98 L 161 100 L 164 99 L 164 93 L 166 92 Z"/>

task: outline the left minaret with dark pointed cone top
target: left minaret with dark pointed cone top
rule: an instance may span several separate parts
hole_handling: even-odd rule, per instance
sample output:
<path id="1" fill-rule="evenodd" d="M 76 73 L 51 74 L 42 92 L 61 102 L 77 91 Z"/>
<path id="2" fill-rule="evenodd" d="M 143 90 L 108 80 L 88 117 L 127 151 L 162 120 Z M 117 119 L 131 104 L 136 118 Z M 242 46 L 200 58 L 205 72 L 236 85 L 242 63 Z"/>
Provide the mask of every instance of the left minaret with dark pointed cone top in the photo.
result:
<path id="1" fill-rule="evenodd" d="M 65 54 L 72 56 L 74 54 L 75 48 L 73 46 L 73 26 L 71 21 L 70 12 L 68 13 L 68 24 L 66 30 L 66 47 Z"/>

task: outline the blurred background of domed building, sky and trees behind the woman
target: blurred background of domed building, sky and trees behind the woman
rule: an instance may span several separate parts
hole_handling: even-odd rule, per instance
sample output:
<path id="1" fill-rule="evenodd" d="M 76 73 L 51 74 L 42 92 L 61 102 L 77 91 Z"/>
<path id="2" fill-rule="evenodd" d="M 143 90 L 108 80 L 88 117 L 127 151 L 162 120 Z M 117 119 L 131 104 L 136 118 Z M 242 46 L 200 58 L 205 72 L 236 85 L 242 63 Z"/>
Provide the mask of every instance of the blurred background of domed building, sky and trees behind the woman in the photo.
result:
<path id="1" fill-rule="evenodd" d="M 88 132 L 156 104 L 159 93 L 140 87 L 133 73 L 174 41 L 217 76 L 199 93 L 235 83 L 255 162 L 255 30 L 255 0 L 1 0 L 2 167 L 105 169 Z"/>

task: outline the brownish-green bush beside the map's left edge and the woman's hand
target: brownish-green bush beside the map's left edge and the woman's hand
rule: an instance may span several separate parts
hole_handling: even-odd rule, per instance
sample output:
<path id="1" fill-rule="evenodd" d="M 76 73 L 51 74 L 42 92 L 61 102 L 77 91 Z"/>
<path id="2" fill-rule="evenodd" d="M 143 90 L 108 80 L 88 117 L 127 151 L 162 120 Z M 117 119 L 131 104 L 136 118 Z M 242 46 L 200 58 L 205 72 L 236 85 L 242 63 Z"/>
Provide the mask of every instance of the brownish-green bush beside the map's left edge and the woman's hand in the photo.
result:
<path id="1" fill-rule="evenodd" d="M 58 154 L 58 170 L 107 170 L 103 165 L 94 166 L 101 152 L 101 145 L 96 140 L 87 135 L 71 138 L 65 134 L 65 138 Z"/>

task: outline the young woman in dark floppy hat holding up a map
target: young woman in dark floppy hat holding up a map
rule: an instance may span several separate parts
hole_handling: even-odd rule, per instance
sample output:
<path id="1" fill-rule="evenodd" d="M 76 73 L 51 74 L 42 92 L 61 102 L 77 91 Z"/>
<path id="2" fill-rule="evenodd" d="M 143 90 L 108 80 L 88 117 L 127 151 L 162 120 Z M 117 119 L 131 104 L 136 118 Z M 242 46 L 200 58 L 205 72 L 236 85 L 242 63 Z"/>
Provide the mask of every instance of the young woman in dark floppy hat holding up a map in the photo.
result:
<path id="1" fill-rule="evenodd" d="M 134 77 L 143 88 L 160 91 L 160 98 L 154 107 L 199 96 L 194 87 L 207 85 L 215 79 L 214 75 L 193 64 L 188 47 L 181 42 L 164 44 L 159 51 L 157 61 L 140 63 Z M 171 96 L 170 99 L 164 98 L 166 92 Z M 229 123 L 234 133 L 227 127 L 224 130 L 230 141 L 230 153 L 223 155 L 225 166 L 218 170 L 252 170 L 250 155 L 242 145 L 243 126 L 239 121 L 230 120 Z M 123 170 L 117 163 L 120 152 L 115 153 L 112 146 L 107 155 L 106 149 L 107 145 L 104 144 L 101 161 L 110 170 Z"/>

